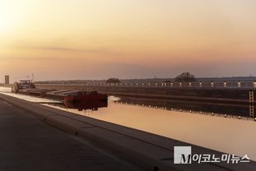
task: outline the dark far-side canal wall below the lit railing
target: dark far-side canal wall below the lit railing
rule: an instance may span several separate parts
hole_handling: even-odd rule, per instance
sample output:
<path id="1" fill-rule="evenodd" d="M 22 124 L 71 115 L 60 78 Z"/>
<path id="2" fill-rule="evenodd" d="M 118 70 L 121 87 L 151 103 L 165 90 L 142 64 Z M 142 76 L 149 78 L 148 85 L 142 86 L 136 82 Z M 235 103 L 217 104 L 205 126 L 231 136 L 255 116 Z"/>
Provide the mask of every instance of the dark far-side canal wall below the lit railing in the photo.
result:
<path id="1" fill-rule="evenodd" d="M 130 97 L 154 99 L 180 99 L 199 102 L 217 103 L 254 103 L 255 90 L 227 88 L 170 88 L 170 87 L 111 87 L 111 86 L 72 86 L 72 85 L 36 85 L 40 89 L 56 90 L 96 90 L 108 95 L 125 95 Z"/>

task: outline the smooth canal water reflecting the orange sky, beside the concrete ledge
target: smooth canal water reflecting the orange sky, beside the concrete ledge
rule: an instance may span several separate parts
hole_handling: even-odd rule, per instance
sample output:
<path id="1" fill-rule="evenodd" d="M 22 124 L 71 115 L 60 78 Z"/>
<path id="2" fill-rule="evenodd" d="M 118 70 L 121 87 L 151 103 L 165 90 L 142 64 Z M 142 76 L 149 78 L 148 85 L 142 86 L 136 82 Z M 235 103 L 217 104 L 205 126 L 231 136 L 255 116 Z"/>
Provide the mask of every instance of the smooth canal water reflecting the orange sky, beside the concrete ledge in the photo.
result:
<path id="1" fill-rule="evenodd" d="M 10 95 L 10 93 L 4 93 Z M 16 95 L 17 98 L 26 99 L 24 96 L 26 95 Z M 30 100 L 33 101 L 34 99 Z M 35 99 L 36 102 L 40 100 L 48 99 Z M 85 117 L 114 122 L 126 127 L 133 127 L 231 155 L 240 157 L 248 155 L 250 159 L 256 160 L 256 150 L 254 150 L 256 122 L 235 118 L 212 117 L 212 115 L 186 113 L 178 110 L 117 104 L 114 101 L 109 101 L 107 108 L 99 108 L 98 111 L 63 109 L 53 104 L 42 105 L 67 110 Z"/>

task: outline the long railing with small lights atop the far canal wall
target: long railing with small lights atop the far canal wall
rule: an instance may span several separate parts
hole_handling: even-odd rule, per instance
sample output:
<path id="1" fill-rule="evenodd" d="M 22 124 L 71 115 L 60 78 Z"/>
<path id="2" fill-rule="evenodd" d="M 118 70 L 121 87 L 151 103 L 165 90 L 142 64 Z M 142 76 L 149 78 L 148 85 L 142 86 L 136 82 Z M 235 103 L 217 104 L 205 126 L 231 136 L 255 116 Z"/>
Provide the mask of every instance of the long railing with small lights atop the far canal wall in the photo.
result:
<path id="1" fill-rule="evenodd" d="M 116 87 L 186 87 L 186 88 L 256 88 L 256 81 L 212 81 L 212 82 L 148 82 L 148 83 L 74 83 L 35 84 L 57 86 L 116 86 Z"/>

